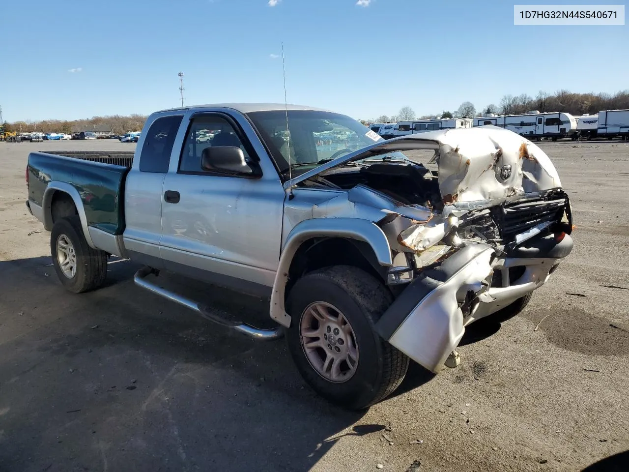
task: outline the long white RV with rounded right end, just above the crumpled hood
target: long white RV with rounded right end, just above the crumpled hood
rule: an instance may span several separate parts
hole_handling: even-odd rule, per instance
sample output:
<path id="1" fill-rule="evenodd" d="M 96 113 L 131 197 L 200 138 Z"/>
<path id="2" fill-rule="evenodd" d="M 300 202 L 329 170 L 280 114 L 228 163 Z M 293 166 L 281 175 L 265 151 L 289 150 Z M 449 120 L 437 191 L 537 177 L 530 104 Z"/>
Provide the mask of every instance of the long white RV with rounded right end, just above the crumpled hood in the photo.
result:
<path id="1" fill-rule="evenodd" d="M 571 137 L 577 128 L 577 120 L 570 113 L 540 113 L 529 111 L 526 115 L 481 116 L 474 118 L 474 126 L 494 125 L 506 128 L 526 138 Z"/>

